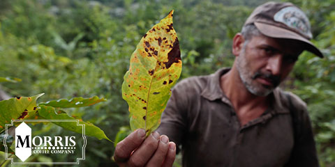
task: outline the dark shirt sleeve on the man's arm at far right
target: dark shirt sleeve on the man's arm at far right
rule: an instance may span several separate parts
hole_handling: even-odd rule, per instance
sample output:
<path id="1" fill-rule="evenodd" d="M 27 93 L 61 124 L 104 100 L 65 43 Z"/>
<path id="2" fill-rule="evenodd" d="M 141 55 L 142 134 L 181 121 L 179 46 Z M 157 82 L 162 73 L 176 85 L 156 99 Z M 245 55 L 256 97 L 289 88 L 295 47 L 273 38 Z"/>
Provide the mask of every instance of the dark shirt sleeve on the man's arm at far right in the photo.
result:
<path id="1" fill-rule="evenodd" d="M 295 99 L 292 100 L 293 102 Z M 311 119 L 308 116 L 306 104 L 302 107 L 297 107 L 295 104 L 296 122 L 293 121 L 295 129 L 295 145 L 291 152 L 290 160 L 285 167 L 305 166 L 318 167 L 318 155 L 315 149 L 315 141 L 313 138 Z M 301 109 L 302 108 L 302 109 Z M 292 111 L 291 111 L 292 112 Z"/>

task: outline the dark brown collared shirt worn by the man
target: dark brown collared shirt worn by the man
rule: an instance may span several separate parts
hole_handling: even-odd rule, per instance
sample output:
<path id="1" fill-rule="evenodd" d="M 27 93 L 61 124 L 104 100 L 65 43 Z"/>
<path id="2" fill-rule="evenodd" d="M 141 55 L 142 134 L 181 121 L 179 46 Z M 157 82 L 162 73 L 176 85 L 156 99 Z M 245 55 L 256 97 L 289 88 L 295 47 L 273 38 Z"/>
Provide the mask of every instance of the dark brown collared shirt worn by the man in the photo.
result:
<path id="1" fill-rule="evenodd" d="M 181 145 L 183 166 L 318 166 L 306 104 L 276 88 L 265 113 L 241 127 L 220 88 L 229 70 L 184 79 L 172 89 L 158 132 Z"/>

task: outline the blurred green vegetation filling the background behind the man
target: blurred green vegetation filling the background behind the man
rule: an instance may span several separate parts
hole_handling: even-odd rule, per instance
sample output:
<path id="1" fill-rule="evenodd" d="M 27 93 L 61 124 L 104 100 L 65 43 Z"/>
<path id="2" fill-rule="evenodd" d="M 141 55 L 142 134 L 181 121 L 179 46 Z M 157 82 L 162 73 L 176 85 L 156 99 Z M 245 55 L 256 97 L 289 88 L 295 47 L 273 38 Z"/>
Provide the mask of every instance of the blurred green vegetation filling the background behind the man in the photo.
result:
<path id="1" fill-rule="evenodd" d="M 184 62 L 181 78 L 209 74 L 232 65 L 232 37 L 263 2 L 1 0 L 0 77 L 22 81 L 4 82 L 0 88 L 10 96 L 45 93 L 43 101 L 105 97 L 107 102 L 73 109 L 71 114 L 114 138 L 128 125 L 128 106 L 121 97 L 123 76 L 137 42 L 151 26 L 174 9 Z M 325 58 L 304 52 L 283 88 L 308 104 L 320 164 L 335 166 L 335 3 L 292 2 L 311 19 L 313 42 Z M 86 160 L 80 164 L 116 166 L 112 152 L 109 141 L 88 138 Z"/>

